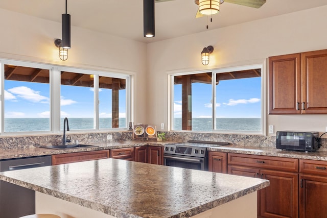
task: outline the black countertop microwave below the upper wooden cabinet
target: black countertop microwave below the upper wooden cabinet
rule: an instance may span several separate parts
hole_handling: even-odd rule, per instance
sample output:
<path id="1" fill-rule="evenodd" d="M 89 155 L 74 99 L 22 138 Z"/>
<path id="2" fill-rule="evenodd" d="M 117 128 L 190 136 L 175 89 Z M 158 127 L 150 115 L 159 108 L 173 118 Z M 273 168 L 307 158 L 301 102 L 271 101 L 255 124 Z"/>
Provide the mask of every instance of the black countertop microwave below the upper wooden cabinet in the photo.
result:
<path id="1" fill-rule="evenodd" d="M 310 131 L 277 131 L 276 148 L 313 152 L 320 148 L 319 133 Z"/>

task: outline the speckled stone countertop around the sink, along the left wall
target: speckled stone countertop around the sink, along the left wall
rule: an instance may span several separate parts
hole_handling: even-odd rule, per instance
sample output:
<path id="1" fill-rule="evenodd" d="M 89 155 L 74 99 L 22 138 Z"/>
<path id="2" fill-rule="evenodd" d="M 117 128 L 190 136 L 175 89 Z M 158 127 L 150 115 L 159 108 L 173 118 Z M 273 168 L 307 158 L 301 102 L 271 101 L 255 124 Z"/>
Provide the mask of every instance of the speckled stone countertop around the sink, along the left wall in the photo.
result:
<path id="1" fill-rule="evenodd" d="M 118 149 L 118 148 L 128 148 L 137 146 L 164 146 L 166 142 L 161 141 L 113 141 L 107 143 L 97 143 L 91 144 L 98 147 L 91 148 L 78 148 L 78 149 L 64 149 L 64 150 L 54 150 L 54 149 L 44 149 L 44 148 L 24 148 L 24 149 L 0 149 L 0 160 L 21 158 L 21 157 L 33 157 L 33 156 L 43 156 L 43 155 L 53 155 L 62 153 L 72 153 L 72 152 L 85 152 L 85 151 L 98 151 L 107 149 Z"/>

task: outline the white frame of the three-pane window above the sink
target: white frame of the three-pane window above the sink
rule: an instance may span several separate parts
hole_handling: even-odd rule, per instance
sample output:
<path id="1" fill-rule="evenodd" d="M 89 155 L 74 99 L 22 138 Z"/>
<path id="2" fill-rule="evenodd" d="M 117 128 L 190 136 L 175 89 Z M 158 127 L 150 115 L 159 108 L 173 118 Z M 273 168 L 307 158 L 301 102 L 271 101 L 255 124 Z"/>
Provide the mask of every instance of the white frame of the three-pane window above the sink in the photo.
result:
<path id="1" fill-rule="evenodd" d="M 43 63 L 34 63 L 34 62 L 26 62 L 26 61 L 17 61 L 17 60 L 8 60 L 8 59 L 0 59 L 1 62 L 1 81 L 0 81 L 0 112 L 1 112 L 1 130 L 0 135 L 3 136 L 19 136 L 19 135 L 49 135 L 49 134 L 61 134 L 63 131 L 60 130 L 61 125 L 61 116 L 60 116 L 60 72 L 61 71 L 69 71 L 76 72 L 81 74 L 95 75 L 94 76 L 94 119 L 95 128 L 94 129 L 83 129 L 83 130 L 71 130 L 71 133 L 97 133 L 97 132 L 113 132 L 113 131 L 121 131 L 128 129 L 128 123 L 132 122 L 132 82 L 133 76 L 131 74 L 127 74 L 126 72 L 107 72 L 102 70 L 91 70 L 91 69 L 81 69 L 78 67 L 69 67 L 69 66 L 61 66 L 61 65 L 53 65 L 53 64 L 43 64 Z M 16 65 L 16 66 L 24 66 L 24 67 L 32 67 L 32 68 L 43 68 L 49 70 L 49 86 L 50 86 L 50 131 L 25 131 L 25 132 L 4 132 L 5 130 L 5 65 Z M 99 76 L 104 77 L 113 77 L 119 79 L 126 80 L 126 128 L 108 128 L 108 129 L 99 129 Z"/>

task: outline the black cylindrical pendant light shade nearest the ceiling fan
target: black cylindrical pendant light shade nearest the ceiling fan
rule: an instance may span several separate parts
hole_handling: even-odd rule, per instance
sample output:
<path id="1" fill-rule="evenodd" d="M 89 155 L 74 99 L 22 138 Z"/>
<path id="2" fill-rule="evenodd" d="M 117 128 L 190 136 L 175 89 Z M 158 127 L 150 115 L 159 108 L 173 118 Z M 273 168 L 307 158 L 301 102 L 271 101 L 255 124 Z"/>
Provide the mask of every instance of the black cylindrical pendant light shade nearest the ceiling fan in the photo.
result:
<path id="1" fill-rule="evenodd" d="M 154 0 L 143 0 L 144 37 L 154 37 Z"/>

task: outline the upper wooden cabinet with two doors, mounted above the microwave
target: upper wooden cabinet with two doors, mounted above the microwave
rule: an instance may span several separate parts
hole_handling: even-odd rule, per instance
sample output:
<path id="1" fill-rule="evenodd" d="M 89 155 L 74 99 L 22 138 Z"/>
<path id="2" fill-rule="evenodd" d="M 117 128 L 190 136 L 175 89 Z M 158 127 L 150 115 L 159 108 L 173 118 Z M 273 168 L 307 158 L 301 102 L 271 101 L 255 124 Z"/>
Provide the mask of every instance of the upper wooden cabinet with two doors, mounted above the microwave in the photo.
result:
<path id="1" fill-rule="evenodd" d="M 327 113 L 327 50 L 269 57 L 269 114 Z"/>

